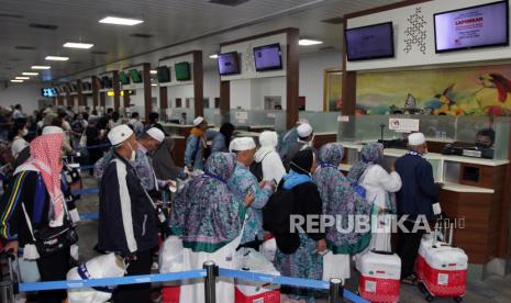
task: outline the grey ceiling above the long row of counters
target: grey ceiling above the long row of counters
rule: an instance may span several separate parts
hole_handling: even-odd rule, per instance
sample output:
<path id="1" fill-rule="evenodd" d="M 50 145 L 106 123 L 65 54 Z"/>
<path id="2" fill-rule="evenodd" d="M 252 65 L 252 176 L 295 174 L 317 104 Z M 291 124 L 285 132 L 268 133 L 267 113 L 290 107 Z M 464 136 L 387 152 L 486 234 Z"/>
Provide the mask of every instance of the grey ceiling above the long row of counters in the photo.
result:
<path id="1" fill-rule="evenodd" d="M 214 65 L 208 55 L 218 52 L 221 42 L 289 26 L 300 29 L 301 37 L 324 41 L 320 46 L 300 47 L 301 55 L 341 52 L 342 25 L 323 20 L 392 2 L 399 0 L 248 0 L 236 7 L 209 0 L 0 0 L 0 79 L 48 63 L 52 69 L 34 80 L 75 79 L 144 61 L 156 64 L 158 58 L 191 49 L 203 50 L 208 67 Z M 98 23 L 107 15 L 144 23 Z M 56 29 L 30 26 L 34 23 Z M 95 47 L 64 48 L 68 41 Z M 47 55 L 70 59 L 45 61 Z"/>

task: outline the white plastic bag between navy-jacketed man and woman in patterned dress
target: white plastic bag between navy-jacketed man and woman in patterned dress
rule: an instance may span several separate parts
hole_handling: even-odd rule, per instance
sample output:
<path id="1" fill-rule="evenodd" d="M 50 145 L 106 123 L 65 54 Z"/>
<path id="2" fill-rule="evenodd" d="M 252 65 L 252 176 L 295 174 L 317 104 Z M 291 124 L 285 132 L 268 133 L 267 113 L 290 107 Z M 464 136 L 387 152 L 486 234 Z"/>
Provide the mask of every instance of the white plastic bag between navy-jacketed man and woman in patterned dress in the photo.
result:
<path id="1" fill-rule="evenodd" d="M 159 272 L 169 273 L 184 270 L 182 239 L 178 236 L 169 236 L 159 248 Z"/>

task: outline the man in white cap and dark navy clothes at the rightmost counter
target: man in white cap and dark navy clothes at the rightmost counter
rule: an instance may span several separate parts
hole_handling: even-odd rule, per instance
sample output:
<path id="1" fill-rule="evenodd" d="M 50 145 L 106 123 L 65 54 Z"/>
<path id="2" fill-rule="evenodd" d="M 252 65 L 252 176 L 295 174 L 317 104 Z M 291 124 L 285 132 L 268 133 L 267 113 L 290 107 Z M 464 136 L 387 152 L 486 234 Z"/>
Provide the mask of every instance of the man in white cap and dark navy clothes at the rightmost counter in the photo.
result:
<path id="1" fill-rule="evenodd" d="M 427 145 L 422 133 L 408 136 L 409 152 L 396 160 L 396 171 L 402 180 L 401 190 L 397 193 L 398 216 L 407 216 L 404 226 L 400 228 L 397 252 L 401 258 L 401 280 L 404 283 L 416 283 L 413 273 L 415 257 L 419 251 L 423 231 L 412 233 L 420 217 L 433 218 L 433 204 L 437 202 L 441 187 L 433 179 L 433 168 L 424 159 Z"/>

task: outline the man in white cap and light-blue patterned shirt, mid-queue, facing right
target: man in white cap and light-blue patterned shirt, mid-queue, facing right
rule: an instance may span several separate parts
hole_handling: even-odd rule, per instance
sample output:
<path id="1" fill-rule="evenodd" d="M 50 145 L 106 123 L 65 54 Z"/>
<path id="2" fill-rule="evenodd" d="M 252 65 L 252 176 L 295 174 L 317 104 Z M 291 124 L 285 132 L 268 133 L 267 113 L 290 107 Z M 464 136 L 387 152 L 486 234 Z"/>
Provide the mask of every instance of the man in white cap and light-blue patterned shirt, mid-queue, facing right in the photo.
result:
<path id="1" fill-rule="evenodd" d="M 274 189 L 271 181 L 257 182 L 248 169 L 254 161 L 256 144 L 251 137 L 235 138 L 229 145 L 229 152 L 236 154 L 236 168 L 227 180 L 227 187 L 243 201 L 248 193 L 254 194 L 254 202 L 246 210 L 246 220 L 240 246 L 259 250 L 263 243 L 263 212 Z"/>

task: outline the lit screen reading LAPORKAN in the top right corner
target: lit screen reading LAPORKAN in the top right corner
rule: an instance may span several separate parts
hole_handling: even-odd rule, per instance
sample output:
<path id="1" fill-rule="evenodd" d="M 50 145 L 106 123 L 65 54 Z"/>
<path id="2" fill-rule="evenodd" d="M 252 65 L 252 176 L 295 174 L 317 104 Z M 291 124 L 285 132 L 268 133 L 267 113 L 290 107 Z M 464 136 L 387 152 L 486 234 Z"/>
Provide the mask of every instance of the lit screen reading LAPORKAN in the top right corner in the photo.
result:
<path id="1" fill-rule="evenodd" d="M 508 1 L 435 13 L 436 53 L 509 45 Z"/>

